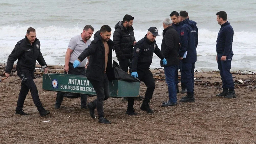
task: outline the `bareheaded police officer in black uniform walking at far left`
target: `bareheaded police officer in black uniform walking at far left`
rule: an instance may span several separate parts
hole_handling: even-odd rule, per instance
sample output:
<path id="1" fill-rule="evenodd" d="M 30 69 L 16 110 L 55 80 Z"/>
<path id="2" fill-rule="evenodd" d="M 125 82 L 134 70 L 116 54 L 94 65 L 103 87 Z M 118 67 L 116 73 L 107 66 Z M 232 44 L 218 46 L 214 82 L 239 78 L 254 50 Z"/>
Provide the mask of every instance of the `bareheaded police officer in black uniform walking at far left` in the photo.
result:
<path id="1" fill-rule="evenodd" d="M 17 108 L 15 114 L 29 115 L 23 111 L 23 105 L 25 98 L 31 91 L 31 96 L 34 104 L 37 107 L 41 116 L 50 114 L 48 110 L 45 110 L 38 96 L 36 84 L 34 83 L 34 70 L 36 66 L 36 60 L 39 62 L 44 72 L 47 73 L 47 64 L 40 51 L 40 42 L 36 38 L 36 30 L 32 27 L 28 28 L 27 34 L 24 39 L 17 42 L 14 50 L 8 57 L 7 66 L 5 69 L 5 76 L 8 78 L 13 68 L 14 61 L 17 62 L 17 74 L 21 78 L 21 87 L 19 91 L 19 98 L 17 101 Z"/>

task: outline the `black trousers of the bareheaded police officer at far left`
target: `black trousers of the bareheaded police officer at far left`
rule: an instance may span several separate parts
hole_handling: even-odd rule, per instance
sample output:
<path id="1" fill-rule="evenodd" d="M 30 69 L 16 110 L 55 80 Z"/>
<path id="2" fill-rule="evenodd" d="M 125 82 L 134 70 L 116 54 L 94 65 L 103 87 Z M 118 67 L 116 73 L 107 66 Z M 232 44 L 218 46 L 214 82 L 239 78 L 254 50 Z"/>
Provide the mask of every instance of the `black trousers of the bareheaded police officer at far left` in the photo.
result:
<path id="1" fill-rule="evenodd" d="M 20 78 L 21 78 L 21 73 L 25 75 L 27 80 L 21 82 L 16 110 L 23 108 L 25 98 L 30 90 L 33 102 L 36 105 L 37 110 L 40 112 L 40 110 L 42 109 L 42 103 L 39 99 L 36 84 L 33 80 L 34 79 L 34 71 L 21 71 L 20 72 L 18 70 L 18 75 Z"/>

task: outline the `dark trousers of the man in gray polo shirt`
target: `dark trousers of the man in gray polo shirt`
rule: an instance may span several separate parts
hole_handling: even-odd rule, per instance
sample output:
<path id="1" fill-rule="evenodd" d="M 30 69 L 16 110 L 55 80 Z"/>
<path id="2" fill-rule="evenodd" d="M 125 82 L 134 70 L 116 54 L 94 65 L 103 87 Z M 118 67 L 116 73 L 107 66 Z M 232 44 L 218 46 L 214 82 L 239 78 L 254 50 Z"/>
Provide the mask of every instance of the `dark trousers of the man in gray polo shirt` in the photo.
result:
<path id="1" fill-rule="evenodd" d="M 85 75 L 85 68 L 83 67 L 77 67 L 74 68 L 72 63 L 69 63 L 69 71 L 68 73 L 64 72 L 65 74 L 69 75 Z M 60 106 L 61 102 L 63 101 L 65 92 L 57 92 L 56 96 L 56 106 Z M 86 94 L 81 94 L 81 108 L 85 108 L 87 103 L 87 95 Z"/>

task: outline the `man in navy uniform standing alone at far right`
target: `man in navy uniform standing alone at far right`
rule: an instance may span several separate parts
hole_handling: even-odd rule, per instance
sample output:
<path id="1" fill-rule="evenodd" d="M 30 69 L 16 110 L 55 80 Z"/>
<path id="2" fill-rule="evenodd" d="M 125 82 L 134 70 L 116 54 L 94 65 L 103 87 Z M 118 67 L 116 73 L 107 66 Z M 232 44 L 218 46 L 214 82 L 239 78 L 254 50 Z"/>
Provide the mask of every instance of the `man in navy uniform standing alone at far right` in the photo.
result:
<path id="1" fill-rule="evenodd" d="M 217 94 L 217 96 L 235 98 L 234 82 L 232 74 L 230 73 L 233 57 L 232 42 L 234 30 L 227 21 L 227 13 L 225 11 L 220 11 L 216 15 L 216 20 L 218 21 L 218 24 L 221 25 L 216 44 L 216 61 L 218 62 L 218 69 L 220 70 L 223 88 L 223 91 L 220 94 Z"/>

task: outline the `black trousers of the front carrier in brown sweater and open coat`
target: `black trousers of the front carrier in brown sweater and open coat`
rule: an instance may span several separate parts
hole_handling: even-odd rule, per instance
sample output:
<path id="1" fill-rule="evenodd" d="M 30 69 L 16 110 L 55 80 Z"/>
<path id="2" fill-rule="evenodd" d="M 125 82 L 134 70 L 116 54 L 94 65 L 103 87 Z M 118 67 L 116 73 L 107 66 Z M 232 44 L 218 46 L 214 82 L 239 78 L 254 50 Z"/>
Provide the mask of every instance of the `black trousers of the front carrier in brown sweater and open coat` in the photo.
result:
<path id="1" fill-rule="evenodd" d="M 107 100 L 110 96 L 110 94 L 109 94 L 109 79 L 107 77 L 107 74 L 104 74 L 103 81 L 97 81 L 97 80 L 93 80 L 90 78 L 87 78 L 87 79 L 91 82 L 91 84 L 97 94 L 97 98 L 92 101 L 92 104 L 94 106 L 96 106 L 96 108 L 97 108 L 98 117 L 104 117 L 103 102 L 105 100 Z"/>

